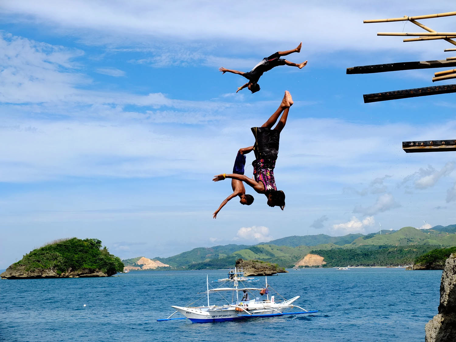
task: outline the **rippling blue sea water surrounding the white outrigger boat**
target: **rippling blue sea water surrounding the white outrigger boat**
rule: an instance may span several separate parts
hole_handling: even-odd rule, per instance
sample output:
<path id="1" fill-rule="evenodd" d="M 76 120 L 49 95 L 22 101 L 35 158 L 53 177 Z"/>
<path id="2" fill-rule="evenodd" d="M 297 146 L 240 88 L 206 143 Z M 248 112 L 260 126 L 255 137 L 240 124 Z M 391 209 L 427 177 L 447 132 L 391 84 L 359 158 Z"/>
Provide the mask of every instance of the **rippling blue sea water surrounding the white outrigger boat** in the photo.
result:
<path id="1" fill-rule="evenodd" d="M 308 316 L 192 324 L 157 322 L 203 297 L 227 271 L 130 272 L 109 278 L 0 281 L 2 341 L 424 341 L 441 271 L 302 269 L 268 277 Z M 256 283 L 261 287 L 264 277 Z M 255 284 L 255 283 L 254 283 Z M 222 303 L 217 294 L 214 303 Z M 230 298 L 231 300 L 231 295 Z M 86 304 L 84 307 L 83 305 Z M 174 317 L 180 317 L 176 314 Z"/>

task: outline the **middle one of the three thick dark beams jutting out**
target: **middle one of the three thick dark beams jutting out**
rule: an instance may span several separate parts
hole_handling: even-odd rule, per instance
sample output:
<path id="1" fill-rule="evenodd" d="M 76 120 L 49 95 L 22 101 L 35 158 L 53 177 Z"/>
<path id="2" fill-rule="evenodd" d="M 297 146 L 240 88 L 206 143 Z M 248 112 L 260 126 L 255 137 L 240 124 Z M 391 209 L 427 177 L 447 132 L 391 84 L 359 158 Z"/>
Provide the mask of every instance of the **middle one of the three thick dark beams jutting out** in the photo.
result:
<path id="1" fill-rule="evenodd" d="M 418 96 L 428 96 L 437 94 L 456 93 L 456 84 L 444 84 L 425 88 L 393 90 L 383 93 L 364 94 L 364 103 L 396 100 L 399 98 L 415 98 Z"/>

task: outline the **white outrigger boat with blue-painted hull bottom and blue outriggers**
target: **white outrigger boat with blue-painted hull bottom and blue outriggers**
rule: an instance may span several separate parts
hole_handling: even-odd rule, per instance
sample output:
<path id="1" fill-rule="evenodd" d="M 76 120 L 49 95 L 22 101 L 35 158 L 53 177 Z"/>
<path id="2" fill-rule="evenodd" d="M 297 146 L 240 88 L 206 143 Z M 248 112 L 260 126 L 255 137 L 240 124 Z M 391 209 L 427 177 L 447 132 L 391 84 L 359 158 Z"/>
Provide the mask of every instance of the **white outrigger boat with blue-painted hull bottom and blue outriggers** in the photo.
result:
<path id="1" fill-rule="evenodd" d="M 307 311 L 301 306 L 293 305 L 300 296 L 297 295 L 291 299 L 283 301 L 275 301 L 275 296 L 269 297 L 268 280 L 266 278 L 266 287 L 263 289 L 254 287 L 239 287 L 239 273 L 235 270 L 233 274 L 233 287 L 218 287 L 215 289 L 209 289 L 209 280 L 206 277 L 207 285 L 207 306 L 171 306 L 176 309 L 168 318 L 157 319 L 157 321 L 171 321 L 176 319 L 188 318 L 192 323 L 209 323 L 209 322 L 223 322 L 223 321 L 235 321 L 242 319 L 249 319 L 255 317 L 274 317 L 274 316 L 285 316 L 285 315 L 301 315 L 318 312 L 318 310 Z M 229 277 L 228 277 L 229 278 Z M 229 281 L 231 279 L 228 279 Z M 222 284 L 223 285 L 223 284 Z M 239 291 L 260 291 L 260 294 L 265 295 L 265 299 L 256 297 L 252 300 L 239 301 Z M 235 291 L 236 301 L 232 304 L 225 305 L 210 305 L 209 294 L 210 293 L 223 293 L 224 291 Z M 233 294 L 234 296 L 234 294 Z M 229 303 L 229 302 L 228 302 Z M 302 311 L 289 312 L 287 310 L 298 308 Z M 171 318 L 174 314 L 180 312 L 185 317 Z"/>

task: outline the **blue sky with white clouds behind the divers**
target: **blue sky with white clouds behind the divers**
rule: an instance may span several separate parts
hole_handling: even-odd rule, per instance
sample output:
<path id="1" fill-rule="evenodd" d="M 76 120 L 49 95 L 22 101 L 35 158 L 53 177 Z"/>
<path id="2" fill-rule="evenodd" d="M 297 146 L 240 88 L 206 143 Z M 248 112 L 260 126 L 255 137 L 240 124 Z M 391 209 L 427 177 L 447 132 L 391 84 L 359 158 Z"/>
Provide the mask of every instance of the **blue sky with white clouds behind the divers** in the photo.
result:
<path id="1" fill-rule="evenodd" d="M 0 268 L 57 238 L 99 238 L 121 258 L 288 235 L 456 223 L 454 152 L 405 154 L 405 140 L 453 139 L 454 94 L 363 103 L 363 93 L 430 85 L 436 70 L 346 75 L 347 67 L 444 59 L 445 41 L 403 43 L 363 19 L 451 11 L 452 1 L 2 1 Z M 423 23 L 455 30 L 454 17 Z M 453 25 L 452 25 L 453 24 Z M 265 73 L 294 48 L 299 70 Z M 452 83 L 446 82 L 446 83 Z M 283 212 L 228 196 L 238 148 L 289 90 L 295 104 L 275 169 Z M 248 155 L 247 164 L 253 155 Z M 248 165 L 246 174 L 251 175 Z M 252 191 L 248 191 L 253 193 Z"/>

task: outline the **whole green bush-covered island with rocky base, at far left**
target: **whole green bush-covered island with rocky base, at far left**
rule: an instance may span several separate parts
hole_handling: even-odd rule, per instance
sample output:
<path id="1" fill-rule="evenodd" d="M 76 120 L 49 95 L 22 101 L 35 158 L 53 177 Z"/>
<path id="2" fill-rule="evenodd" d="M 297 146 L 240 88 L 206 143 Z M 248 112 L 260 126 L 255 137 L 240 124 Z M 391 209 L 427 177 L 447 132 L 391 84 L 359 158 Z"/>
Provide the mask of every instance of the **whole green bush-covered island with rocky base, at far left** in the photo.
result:
<path id="1" fill-rule="evenodd" d="M 107 277 L 124 270 L 122 261 L 110 254 L 96 238 L 66 238 L 34 249 L 10 265 L 5 279 Z"/>

